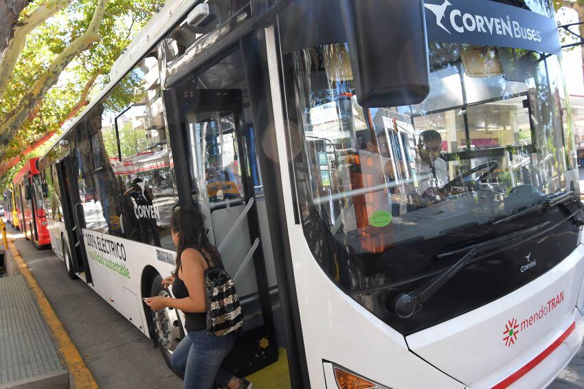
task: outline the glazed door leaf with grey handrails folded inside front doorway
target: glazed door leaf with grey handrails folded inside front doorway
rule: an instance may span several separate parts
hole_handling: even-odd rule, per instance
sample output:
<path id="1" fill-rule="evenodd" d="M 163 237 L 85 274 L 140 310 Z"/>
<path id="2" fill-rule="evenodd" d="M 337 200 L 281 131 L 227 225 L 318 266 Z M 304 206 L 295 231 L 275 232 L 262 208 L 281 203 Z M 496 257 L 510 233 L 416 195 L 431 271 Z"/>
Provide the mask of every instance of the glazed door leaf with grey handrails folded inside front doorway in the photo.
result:
<path id="1" fill-rule="evenodd" d="M 228 58 L 232 65 L 238 60 L 236 54 Z M 273 315 L 273 306 L 278 306 L 277 286 L 275 276 L 271 282 L 267 276 L 266 263 L 273 264 L 273 256 L 269 234 L 266 237 L 266 232 L 260 232 L 258 202 L 263 199 L 260 187 L 254 186 L 258 177 L 250 173 L 256 164 L 249 161 L 255 150 L 251 149 L 251 115 L 246 118 L 243 104 L 245 90 L 232 88 L 228 79 L 222 85 L 229 88 L 207 89 L 214 85 L 211 78 L 218 76 L 214 68 L 209 71 L 210 78 L 200 75 L 196 87 L 194 82 L 186 82 L 174 96 L 181 98 L 192 202 L 205 214 L 210 241 L 221 253 L 242 304 L 244 333 L 224 365 L 243 377 L 278 360 Z"/>

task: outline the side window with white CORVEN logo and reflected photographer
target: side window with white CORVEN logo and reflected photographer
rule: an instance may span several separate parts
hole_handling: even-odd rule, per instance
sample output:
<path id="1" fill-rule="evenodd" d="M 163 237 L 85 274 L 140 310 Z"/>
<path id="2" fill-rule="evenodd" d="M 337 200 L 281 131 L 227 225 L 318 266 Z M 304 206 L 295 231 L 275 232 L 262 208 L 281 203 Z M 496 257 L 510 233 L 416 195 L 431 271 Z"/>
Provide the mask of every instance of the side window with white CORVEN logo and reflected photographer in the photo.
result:
<path id="1" fill-rule="evenodd" d="M 104 232 L 174 249 L 177 195 L 158 77 L 157 60 L 144 58 L 89 113 L 88 137 Z"/>

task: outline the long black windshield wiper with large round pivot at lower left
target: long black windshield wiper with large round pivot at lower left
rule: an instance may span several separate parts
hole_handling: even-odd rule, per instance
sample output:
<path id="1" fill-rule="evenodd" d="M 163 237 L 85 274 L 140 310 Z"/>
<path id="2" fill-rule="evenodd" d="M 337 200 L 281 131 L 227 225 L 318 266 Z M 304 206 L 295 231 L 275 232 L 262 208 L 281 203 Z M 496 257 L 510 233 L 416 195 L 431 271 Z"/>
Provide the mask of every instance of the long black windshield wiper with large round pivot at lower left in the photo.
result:
<path id="1" fill-rule="evenodd" d="M 458 271 L 460 271 L 471 260 L 473 260 L 473 258 L 478 256 L 478 254 L 486 252 L 490 249 L 495 249 L 497 247 L 520 243 L 528 236 L 534 234 L 549 224 L 550 222 L 546 221 L 544 223 L 534 225 L 533 227 L 526 228 L 525 230 L 511 232 L 510 234 L 492 239 L 491 241 L 486 241 L 479 243 L 478 245 L 471 246 L 467 254 L 464 254 L 464 256 L 462 256 L 462 258 L 460 258 L 456 263 L 434 278 L 434 280 L 432 280 L 430 284 L 423 290 L 420 291 L 419 289 L 416 289 L 410 293 L 402 293 L 399 295 L 396 298 L 396 302 L 394 304 L 396 314 L 402 319 L 406 319 L 414 315 L 414 313 L 418 312 L 420 308 L 422 308 L 423 302 L 428 300 L 430 296 L 436 293 L 438 289 L 445 285 L 446 282 L 455 276 Z M 457 250 L 457 252 L 458 251 L 459 250 Z"/>

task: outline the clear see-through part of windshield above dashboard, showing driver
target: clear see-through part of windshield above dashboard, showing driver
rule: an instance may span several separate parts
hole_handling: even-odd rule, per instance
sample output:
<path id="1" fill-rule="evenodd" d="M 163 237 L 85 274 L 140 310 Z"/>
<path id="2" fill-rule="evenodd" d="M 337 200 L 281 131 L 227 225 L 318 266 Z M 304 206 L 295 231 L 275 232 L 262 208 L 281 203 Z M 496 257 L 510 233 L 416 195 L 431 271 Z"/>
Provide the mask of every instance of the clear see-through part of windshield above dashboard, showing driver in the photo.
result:
<path id="1" fill-rule="evenodd" d="M 469 64 L 472 72 L 461 58 L 468 53 L 484 61 Z M 563 188 L 569 161 L 557 60 L 432 45 L 426 100 L 363 109 L 344 58 L 344 45 L 294 55 L 315 207 L 333 234 L 392 226 L 392 234 L 364 239 L 359 252 L 493 221 Z M 508 69 L 499 58 L 525 65 Z M 495 61 L 501 74 L 490 75 Z"/>

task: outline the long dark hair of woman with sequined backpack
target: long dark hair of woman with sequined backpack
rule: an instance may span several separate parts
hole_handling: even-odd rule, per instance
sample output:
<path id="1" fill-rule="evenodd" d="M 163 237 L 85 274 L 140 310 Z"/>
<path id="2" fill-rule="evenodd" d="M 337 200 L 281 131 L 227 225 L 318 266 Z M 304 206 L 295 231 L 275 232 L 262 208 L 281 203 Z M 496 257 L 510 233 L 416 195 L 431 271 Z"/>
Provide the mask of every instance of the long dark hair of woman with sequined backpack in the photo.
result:
<path id="1" fill-rule="evenodd" d="M 211 265 L 223 267 L 221 255 L 211 244 L 207 237 L 208 230 L 205 228 L 205 216 L 193 208 L 175 209 L 170 219 L 170 230 L 179 234 L 179 244 L 177 245 L 177 266 L 172 272 L 174 276 L 179 274 L 181 267 L 181 254 L 183 251 L 192 247 L 194 249 L 203 249 L 210 254 Z"/>

